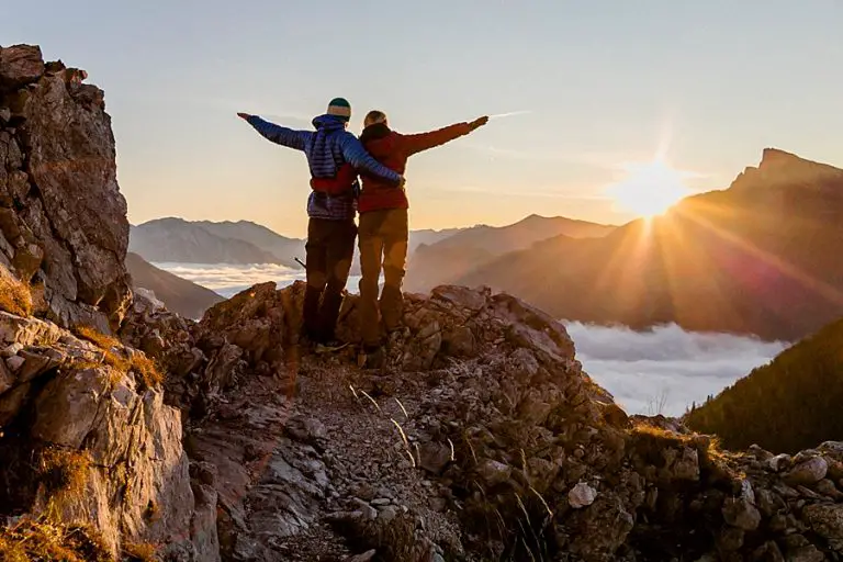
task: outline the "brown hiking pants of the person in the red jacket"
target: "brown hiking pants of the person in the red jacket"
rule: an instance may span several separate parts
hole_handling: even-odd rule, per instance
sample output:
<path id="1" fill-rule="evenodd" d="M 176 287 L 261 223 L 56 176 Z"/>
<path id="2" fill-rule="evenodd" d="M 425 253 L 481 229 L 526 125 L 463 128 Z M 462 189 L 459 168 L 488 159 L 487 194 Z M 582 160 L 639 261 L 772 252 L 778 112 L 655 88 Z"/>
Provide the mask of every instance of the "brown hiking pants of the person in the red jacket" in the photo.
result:
<path id="1" fill-rule="evenodd" d="M 360 214 L 360 316 L 363 345 L 380 344 L 378 284 L 383 266 L 380 315 L 387 331 L 401 324 L 404 265 L 407 260 L 408 223 L 406 209 L 385 209 Z"/>

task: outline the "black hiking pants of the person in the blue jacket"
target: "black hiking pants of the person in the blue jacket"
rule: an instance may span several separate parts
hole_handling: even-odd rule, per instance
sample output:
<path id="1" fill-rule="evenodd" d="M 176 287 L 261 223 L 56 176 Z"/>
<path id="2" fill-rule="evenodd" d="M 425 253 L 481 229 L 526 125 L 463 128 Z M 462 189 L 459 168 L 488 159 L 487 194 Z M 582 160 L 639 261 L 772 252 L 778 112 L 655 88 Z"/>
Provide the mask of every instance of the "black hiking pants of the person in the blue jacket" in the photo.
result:
<path id="1" fill-rule="evenodd" d="M 304 329 L 313 341 L 327 342 L 334 339 L 356 238 L 357 225 L 353 218 L 311 218 L 307 224 L 307 243 L 304 246 L 307 252 Z"/>

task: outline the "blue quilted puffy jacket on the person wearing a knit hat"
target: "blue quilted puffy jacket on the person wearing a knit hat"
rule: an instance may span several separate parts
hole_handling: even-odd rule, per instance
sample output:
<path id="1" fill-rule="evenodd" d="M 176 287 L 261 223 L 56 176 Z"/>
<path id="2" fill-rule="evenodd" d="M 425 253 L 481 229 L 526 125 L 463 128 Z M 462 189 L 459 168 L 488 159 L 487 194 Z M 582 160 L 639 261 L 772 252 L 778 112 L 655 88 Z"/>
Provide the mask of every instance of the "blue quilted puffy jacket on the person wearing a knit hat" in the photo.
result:
<path id="1" fill-rule="evenodd" d="M 366 151 L 360 140 L 346 131 L 345 122 L 335 115 L 319 115 L 313 120 L 316 131 L 294 131 L 251 115 L 248 123 L 269 140 L 304 151 L 313 178 L 334 178 L 344 164 L 364 170 L 397 184 L 401 176 L 381 165 Z M 355 183 L 357 186 L 357 183 Z M 357 211 L 357 190 L 329 195 L 312 191 L 307 200 L 307 214 L 314 218 L 342 221 L 353 218 Z"/>

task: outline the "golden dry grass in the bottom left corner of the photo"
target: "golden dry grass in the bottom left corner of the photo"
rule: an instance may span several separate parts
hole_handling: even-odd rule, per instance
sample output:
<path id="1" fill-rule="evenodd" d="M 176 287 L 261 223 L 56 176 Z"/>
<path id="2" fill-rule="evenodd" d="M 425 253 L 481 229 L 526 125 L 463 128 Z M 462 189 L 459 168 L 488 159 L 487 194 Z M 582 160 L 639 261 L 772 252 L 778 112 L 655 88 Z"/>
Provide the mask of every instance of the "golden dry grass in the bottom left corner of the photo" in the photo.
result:
<path id="1" fill-rule="evenodd" d="M 56 525 L 24 517 L 0 528 L 0 560 L 114 562 L 100 535 L 87 525 Z"/>

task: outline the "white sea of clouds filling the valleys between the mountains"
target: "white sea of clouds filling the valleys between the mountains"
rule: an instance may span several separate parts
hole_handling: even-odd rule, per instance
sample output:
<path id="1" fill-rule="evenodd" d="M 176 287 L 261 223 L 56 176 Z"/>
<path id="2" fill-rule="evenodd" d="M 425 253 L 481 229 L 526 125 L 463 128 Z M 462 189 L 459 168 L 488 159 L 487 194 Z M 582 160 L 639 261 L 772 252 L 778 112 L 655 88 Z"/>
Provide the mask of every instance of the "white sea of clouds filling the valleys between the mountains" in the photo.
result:
<path id="1" fill-rule="evenodd" d="M 155 265 L 226 297 L 255 283 L 274 281 L 284 286 L 304 279 L 303 270 L 271 263 Z M 349 278 L 347 289 L 357 292 L 358 280 Z M 585 371 L 630 414 L 682 415 L 694 402 L 702 403 L 787 346 L 752 337 L 685 331 L 676 325 L 648 331 L 578 322 L 565 325 Z"/>

